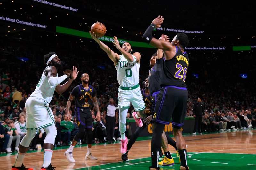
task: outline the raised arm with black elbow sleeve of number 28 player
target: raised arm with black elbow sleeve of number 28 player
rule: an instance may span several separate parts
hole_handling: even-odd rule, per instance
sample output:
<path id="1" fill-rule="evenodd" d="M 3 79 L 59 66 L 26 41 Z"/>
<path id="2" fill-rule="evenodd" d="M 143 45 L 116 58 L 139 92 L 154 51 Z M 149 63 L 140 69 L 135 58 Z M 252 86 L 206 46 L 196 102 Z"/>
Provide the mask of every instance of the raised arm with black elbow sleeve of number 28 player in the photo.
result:
<path id="1" fill-rule="evenodd" d="M 161 27 L 161 24 L 163 23 L 163 21 L 164 21 L 163 16 L 159 15 L 157 18 L 155 18 L 152 21 L 151 25 L 148 27 L 148 29 L 143 34 L 142 39 L 144 41 L 148 42 L 151 46 L 153 46 L 155 48 L 162 49 L 164 51 L 171 51 L 175 47 L 172 46 L 172 44 L 170 42 L 158 41 L 156 38 L 154 38 L 152 36 L 153 29 Z"/>

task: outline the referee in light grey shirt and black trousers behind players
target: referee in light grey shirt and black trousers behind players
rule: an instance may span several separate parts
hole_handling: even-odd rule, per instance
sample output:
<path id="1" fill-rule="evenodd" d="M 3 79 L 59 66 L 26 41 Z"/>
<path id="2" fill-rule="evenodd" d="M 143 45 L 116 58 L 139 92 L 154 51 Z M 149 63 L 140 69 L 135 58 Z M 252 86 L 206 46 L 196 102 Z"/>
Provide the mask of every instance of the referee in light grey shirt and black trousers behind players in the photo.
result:
<path id="1" fill-rule="evenodd" d="M 111 143 L 114 143 L 113 141 L 114 128 L 115 128 L 115 124 L 117 123 L 117 109 L 116 109 L 116 106 L 114 105 L 113 98 L 109 99 L 109 104 L 104 107 L 103 114 L 104 114 L 104 122 L 106 123 L 107 141 L 108 143 L 111 144 Z"/>

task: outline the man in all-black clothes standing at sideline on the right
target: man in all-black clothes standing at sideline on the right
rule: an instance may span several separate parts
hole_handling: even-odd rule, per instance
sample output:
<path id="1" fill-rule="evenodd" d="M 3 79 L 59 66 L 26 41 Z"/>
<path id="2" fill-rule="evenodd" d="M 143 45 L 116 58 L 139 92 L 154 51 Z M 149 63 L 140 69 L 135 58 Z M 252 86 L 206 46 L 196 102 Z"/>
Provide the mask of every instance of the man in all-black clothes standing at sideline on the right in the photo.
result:
<path id="1" fill-rule="evenodd" d="M 202 104 L 201 99 L 198 98 L 197 102 L 193 106 L 193 116 L 195 118 L 195 126 L 194 126 L 193 134 L 196 134 L 196 131 L 198 131 L 199 134 L 202 134 L 201 122 L 202 122 L 203 115 L 204 115 L 204 104 Z"/>

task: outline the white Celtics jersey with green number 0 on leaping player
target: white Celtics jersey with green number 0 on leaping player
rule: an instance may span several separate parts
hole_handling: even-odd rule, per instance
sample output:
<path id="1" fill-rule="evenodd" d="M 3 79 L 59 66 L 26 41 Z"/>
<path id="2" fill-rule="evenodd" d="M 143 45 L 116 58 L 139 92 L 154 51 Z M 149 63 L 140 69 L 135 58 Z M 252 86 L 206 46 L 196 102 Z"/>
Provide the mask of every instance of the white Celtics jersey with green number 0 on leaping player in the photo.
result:
<path id="1" fill-rule="evenodd" d="M 134 56 L 134 55 L 132 55 Z M 130 63 L 124 55 L 120 55 L 120 59 L 116 64 L 117 81 L 122 87 L 133 87 L 139 84 L 140 64 L 137 62 Z"/>

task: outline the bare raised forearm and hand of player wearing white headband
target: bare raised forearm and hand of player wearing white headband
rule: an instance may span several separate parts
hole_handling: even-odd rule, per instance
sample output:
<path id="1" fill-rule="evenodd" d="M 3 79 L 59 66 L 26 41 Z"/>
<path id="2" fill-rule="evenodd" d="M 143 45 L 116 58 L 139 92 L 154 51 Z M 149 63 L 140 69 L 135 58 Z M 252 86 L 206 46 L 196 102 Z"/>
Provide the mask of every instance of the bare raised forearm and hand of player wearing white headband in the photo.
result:
<path id="1" fill-rule="evenodd" d="M 65 92 L 68 89 L 68 87 L 71 85 L 71 83 L 76 79 L 78 73 L 79 71 L 77 71 L 77 68 L 76 67 L 74 68 L 74 66 L 73 66 L 73 71 L 65 70 L 64 74 L 71 75 L 71 78 L 69 78 L 68 81 L 63 85 L 58 84 L 55 88 L 55 91 L 58 94 L 62 94 L 63 92 Z"/>

